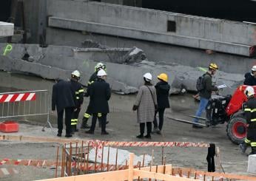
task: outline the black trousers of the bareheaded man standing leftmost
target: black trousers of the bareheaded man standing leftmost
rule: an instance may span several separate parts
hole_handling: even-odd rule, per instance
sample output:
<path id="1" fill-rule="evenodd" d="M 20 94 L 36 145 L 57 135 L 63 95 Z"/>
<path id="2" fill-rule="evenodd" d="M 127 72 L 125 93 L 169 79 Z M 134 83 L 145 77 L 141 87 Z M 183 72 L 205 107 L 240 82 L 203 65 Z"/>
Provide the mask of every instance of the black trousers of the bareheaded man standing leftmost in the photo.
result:
<path id="1" fill-rule="evenodd" d="M 66 125 L 66 134 L 71 134 L 71 117 L 73 115 L 74 108 L 67 107 L 65 108 L 65 125 Z M 63 114 L 64 110 L 58 112 L 58 133 L 62 134 L 63 129 Z"/>

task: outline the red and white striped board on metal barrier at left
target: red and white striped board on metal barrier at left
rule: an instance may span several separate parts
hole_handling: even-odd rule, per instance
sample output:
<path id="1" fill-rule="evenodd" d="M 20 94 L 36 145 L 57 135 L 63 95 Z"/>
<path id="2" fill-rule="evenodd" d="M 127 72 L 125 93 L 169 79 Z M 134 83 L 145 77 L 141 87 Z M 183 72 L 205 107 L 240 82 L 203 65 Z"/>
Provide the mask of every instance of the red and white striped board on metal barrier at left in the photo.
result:
<path id="1" fill-rule="evenodd" d="M 8 94 L 8 95 L 0 95 L 0 103 L 12 103 L 19 101 L 27 101 L 27 100 L 36 100 L 35 92 L 27 92 L 20 94 Z"/>

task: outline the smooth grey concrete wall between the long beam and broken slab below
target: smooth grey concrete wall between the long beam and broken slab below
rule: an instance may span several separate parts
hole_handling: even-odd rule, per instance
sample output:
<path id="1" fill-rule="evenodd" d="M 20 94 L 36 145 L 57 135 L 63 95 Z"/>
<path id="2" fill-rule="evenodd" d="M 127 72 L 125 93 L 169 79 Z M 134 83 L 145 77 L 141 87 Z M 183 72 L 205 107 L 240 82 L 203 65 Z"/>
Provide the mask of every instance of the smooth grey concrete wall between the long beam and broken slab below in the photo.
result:
<path id="1" fill-rule="evenodd" d="M 47 28 L 48 44 L 82 47 L 81 42 L 86 39 L 92 39 L 93 41 L 98 41 L 100 44 L 110 47 L 139 47 L 144 50 L 149 61 L 155 61 L 157 64 L 182 64 L 192 67 L 206 67 L 210 62 L 216 62 L 216 64 L 220 66 L 220 70 L 240 74 L 248 72 L 250 67 L 256 64 L 256 59 L 238 55 L 229 55 L 220 52 L 209 55 L 201 49 L 191 49 L 169 44 L 133 40 L 130 38 L 116 38 L 108 35 L 83 34 L 71 30 Z"/>

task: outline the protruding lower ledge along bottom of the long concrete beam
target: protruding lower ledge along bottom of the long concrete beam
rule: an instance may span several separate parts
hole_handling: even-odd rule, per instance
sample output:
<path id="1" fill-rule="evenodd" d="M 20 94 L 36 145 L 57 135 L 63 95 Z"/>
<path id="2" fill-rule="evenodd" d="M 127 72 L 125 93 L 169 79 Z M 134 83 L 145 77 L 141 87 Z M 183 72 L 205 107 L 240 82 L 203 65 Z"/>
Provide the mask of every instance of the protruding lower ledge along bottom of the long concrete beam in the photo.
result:
<path id="1" fill-rule="evenodd" d="M 146 41 L 155 41 L 165 44 L 176 44 L 183 47 L 198 49 L 212 49 L 218 52 L 226 52 L 235 55 L 251 56 L 252 46 L 245 44 L 233 44 L 223 41 L 212 41 L 205 38 L 195 38 L 183 35 L 170 35 L 168 33 L 138 30 L 110 24 L 101 24 L 90 21 L 81 21 L 68 18 L 50 17 L 49 26 L 68 30 L 80 30 L 105 35 L 116 35 L 126 38 L 135 38 Z"/>

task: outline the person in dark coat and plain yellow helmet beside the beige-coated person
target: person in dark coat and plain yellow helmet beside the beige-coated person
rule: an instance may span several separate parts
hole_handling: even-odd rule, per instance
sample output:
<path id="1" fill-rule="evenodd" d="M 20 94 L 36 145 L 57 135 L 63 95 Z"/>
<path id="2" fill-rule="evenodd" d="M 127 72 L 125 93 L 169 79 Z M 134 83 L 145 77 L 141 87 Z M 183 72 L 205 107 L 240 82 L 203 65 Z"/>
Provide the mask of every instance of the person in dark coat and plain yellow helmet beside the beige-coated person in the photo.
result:
<path id="1" fill-rule="evenodd" d="M 164 124 L 164 110 L 169 108 L 169 89 L 171 86 L 168 84 L 168 75 L 161 73 L 158 75 L 159 82 L 155 85 L 156 96 L 158 100 L 158 110 L 155 112 L 154 117 L 154 131 L 152 133 L 161 134 Z M 159 125 L 156 115 L 159 116 Z"/>

